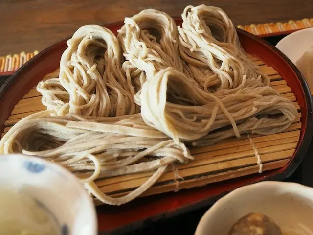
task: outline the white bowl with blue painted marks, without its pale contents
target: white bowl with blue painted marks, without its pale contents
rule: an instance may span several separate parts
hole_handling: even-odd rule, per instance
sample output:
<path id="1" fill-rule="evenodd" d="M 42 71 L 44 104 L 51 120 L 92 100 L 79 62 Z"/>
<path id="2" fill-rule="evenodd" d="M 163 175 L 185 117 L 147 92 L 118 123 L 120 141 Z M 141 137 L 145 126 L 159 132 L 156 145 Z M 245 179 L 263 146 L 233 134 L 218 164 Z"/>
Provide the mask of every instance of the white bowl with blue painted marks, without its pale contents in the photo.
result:
<path id="1" fill-rule="evenodd" d="M 53 217 L 60 235 L 97 234 L 96 211 L 86 189 L 57 164 L 21 154 L 0 155 L 0 190 L 4 188 L 35 199 Z"/>

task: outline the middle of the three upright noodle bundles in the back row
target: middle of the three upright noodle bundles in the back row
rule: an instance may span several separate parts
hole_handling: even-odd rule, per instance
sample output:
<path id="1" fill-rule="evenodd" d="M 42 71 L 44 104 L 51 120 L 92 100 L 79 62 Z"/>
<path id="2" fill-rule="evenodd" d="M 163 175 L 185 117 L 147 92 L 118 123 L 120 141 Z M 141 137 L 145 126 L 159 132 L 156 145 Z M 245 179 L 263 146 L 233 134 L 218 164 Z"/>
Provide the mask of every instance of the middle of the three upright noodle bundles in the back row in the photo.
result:
<path id="1" fill-rule="evenodd" d="M 175 21 L 165 12 L 143 10 L 132 18 L 125 18 L 125 25 L 118 32 L 126 59 L 123 68 L 135 84 L 138 105 L 144 82 L 167 67 L 188 73 L 187 78 L 194 83 L 192 73 L 179 56 L 179 32 Z"/>

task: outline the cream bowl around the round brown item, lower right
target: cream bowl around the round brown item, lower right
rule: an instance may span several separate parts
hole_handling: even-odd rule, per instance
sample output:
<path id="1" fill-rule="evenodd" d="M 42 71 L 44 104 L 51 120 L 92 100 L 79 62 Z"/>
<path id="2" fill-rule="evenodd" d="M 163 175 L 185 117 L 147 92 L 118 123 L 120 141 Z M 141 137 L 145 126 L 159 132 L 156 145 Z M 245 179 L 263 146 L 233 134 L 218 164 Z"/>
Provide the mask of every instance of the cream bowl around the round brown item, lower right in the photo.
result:
<path id="1" fill-rule="evenodd" d="M 218 200 L 201 218 L 195 235 L 227 235 L 244 215 L 272 218 L 286 234 L 313 234 L 313 188 L 265 181 L 237 188 Z"/>

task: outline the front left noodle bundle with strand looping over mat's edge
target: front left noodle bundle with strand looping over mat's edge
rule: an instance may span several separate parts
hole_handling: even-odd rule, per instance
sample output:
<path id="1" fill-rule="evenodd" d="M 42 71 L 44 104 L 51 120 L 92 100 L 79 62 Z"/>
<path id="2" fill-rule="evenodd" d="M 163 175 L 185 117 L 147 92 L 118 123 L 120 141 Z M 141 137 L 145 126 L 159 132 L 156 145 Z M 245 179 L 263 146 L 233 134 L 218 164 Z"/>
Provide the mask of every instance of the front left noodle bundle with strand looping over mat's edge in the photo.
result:
<path id="1" fill-rule="evenodd" d="M 51 117 L 54 112 L 35 113 L 19 121 L 0 141 L 0 152 L 19 152 L 58 163 L 80 177 L 103 203 L 127 203 L 150 188 L 168 165 L 192 159 L 183 143 L 175 144 L 147 126 L 140 114 L 123 119 L 74 114 Z M 153 170 L 146 183 L 121 198 L 100 193 L 93 183 L 97 178 Z"/>

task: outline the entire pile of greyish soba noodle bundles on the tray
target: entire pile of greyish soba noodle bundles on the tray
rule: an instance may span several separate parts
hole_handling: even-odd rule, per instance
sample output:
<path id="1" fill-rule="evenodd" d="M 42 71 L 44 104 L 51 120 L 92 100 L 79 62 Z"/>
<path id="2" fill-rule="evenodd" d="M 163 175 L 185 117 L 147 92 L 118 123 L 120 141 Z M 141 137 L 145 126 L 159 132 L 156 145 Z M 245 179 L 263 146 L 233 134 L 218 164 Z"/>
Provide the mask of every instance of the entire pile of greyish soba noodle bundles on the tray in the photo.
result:
<path id="1" fill-rule="evenodd" d="M 68 40 L 60 69 L 37 90 L 47 111 L 30 115 L 0 141 L 0 153 L 54 161 L 75 173 L 101 202 L 121 205 L 153 186 L 170 165 L 244 133 L 270 135 L 296 117 L 242 49 L 223 10 L 187 6 L 177 26 L 143 10 L 118 36 L 86 25 Z M 100 178 L 154 171 L 126 196 L 105 195 Z"/>

